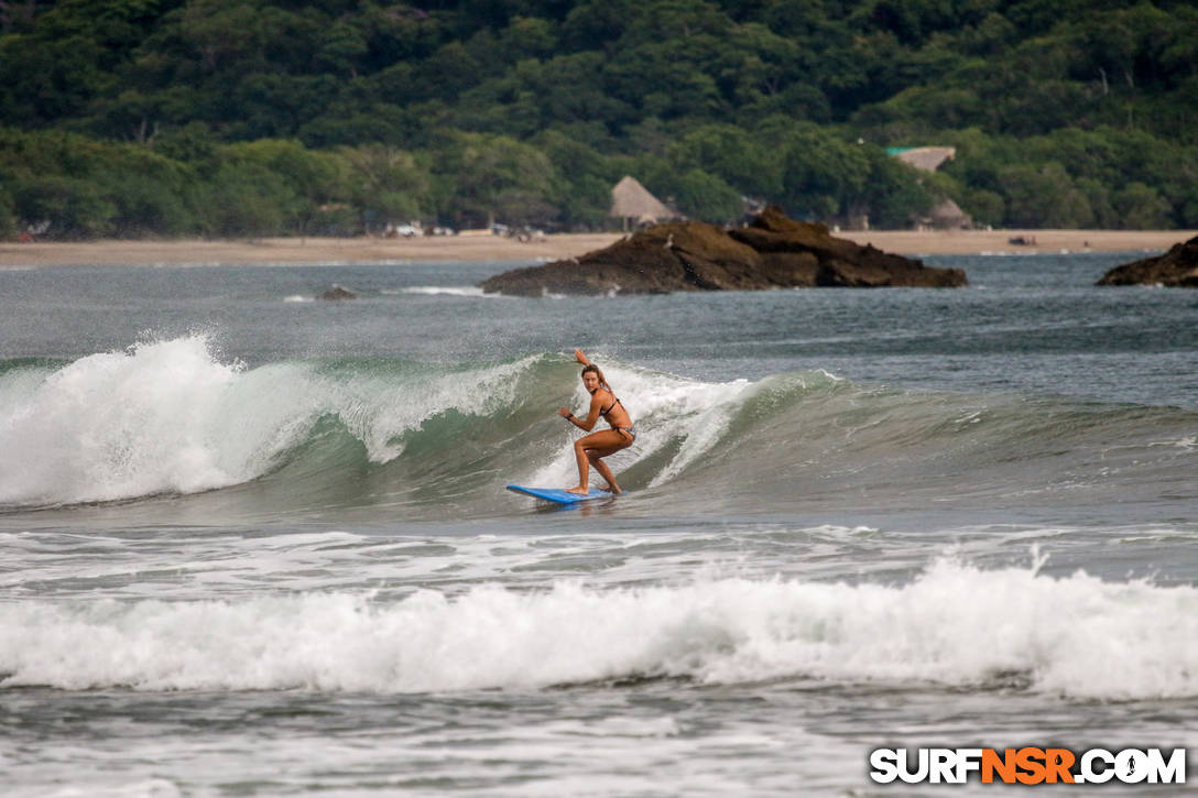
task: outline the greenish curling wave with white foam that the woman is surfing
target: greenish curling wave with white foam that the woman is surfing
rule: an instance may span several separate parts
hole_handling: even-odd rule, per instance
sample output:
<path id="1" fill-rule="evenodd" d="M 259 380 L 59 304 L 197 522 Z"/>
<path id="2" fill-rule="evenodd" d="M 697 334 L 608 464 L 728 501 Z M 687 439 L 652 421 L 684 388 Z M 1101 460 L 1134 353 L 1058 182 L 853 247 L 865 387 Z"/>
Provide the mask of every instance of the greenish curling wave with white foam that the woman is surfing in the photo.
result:
<path id="1" fill-rule="evenodd" d="M 636 443 L 625 488 L 766 509 L 795 502 L 1194 494 L 1198 413 L 866 387 L 823 371 L 703 382 L 604 358 Z M 565 356 L 502 363 L 286 361 L 249 368 L 205 335 L 69 363 L 0 363 L 0 507 L 218 489 L 272 507 L 456 503 L 564 484 L 586 404 Z M 418 512 L 417 512 L 418 514 Z"/>

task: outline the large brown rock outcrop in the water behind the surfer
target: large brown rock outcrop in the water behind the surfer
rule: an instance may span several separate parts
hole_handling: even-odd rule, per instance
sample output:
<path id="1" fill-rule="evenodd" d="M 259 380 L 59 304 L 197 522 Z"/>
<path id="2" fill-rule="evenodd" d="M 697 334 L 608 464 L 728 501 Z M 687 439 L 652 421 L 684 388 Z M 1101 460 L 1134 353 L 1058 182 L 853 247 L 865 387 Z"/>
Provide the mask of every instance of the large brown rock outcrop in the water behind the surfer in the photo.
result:
<path id="1" fill-rule="evenodd" d="M 702 222 L 652 226 L 581 258 L 504 272 L 482 283 L 489 294 L 667 294 L 813 286 L 966 284 L 960 268 L 932 268 L 828 234 L 823 224 L 767 207 L 745 228 Z"/>

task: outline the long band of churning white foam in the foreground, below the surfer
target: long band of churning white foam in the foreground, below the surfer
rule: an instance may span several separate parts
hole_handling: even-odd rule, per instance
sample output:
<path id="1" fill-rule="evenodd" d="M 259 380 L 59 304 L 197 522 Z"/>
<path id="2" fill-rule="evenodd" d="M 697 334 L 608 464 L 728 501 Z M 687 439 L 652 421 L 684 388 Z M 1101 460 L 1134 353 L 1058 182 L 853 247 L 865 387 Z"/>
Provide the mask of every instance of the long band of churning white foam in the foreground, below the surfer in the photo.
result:
<path id="1" fill-rule="evenodd" d="M 0 605 L 0 684 L 62 689 L 409 693 L 657 676 L 976 687 L 1017 675 L 1078 697 L 1198 695 L 1198 588 L 951 561 L 897 586 L 24 601 Z"/>

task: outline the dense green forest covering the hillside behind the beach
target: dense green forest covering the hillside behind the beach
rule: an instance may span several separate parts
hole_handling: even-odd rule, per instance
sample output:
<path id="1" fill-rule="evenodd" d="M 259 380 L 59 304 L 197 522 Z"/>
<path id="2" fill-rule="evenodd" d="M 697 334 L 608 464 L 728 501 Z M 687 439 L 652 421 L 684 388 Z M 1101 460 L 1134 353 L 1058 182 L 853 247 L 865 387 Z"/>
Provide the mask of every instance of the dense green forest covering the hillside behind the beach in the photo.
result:
<path id="1" fill-rule="evenodd" d="M 904 226 L 1198 226 L 1172 0 L 0 2 L 0 235 L 610 224 L 624 174 Z M 936 175 L 887 146 L 952 145 Z"/>

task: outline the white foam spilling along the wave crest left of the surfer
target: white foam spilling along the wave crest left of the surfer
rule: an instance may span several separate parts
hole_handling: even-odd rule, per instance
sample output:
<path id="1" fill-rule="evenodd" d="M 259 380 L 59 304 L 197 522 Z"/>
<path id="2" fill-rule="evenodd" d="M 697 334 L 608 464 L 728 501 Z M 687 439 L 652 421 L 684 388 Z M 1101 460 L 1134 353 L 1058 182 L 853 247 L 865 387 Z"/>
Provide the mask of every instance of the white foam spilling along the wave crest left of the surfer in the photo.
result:
<path id="1" fill-rule="evenodd" d="M 196 492 L 266 473 L 321 416 L 368 455 L 403 452 L 406 430 L 447 409 L 491 412 L 537 358 L 429 379 L 326 375 L 303 363 L 222 363 L 206 335 L 146 341 L 46 375 L 0 380 L 0 503 Z M 31 375 L 36 375 L 31 376 Z M 494 386 L 479 391 L 483 381 Z"/>

